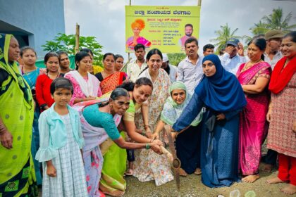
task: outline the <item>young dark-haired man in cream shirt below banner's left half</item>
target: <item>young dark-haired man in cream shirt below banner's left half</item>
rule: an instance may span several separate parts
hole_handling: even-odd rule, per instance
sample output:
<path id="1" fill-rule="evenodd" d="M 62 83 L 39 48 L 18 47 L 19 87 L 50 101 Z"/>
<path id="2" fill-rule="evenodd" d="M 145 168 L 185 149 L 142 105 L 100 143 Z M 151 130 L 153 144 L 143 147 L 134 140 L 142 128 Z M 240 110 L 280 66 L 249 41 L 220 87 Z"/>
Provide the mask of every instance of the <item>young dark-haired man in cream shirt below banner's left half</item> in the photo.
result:
<path id="1" fill-rule="evenodd" d="M 140 73 L 147 68 L 147 63 L 145 62 L 145 46 L 143 44 L 137 44 L 134 49 L 137 60 L 129 63 L 126 70 L 132 82 L 135 82 Z"/>

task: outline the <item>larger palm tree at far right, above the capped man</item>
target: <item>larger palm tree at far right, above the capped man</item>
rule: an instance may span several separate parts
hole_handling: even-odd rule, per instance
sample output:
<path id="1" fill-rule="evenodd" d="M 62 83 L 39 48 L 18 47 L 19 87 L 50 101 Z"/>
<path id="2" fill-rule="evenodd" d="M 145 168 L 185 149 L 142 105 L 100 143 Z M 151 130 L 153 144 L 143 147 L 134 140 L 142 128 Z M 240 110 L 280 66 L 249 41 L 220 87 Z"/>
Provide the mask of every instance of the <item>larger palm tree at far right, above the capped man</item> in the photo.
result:
<path id="1" fill-rule="evenodd" d="M 282 8 L 274 8 L 270 15 L 265 15 L 250 30 L 254 35 L 265 34 L 269 30 L 282 30 L 285 33 L 290 32 L 296 28 L 296 24 L 289 25 L 291 18 L 292 12 L 284 16 Z"/>

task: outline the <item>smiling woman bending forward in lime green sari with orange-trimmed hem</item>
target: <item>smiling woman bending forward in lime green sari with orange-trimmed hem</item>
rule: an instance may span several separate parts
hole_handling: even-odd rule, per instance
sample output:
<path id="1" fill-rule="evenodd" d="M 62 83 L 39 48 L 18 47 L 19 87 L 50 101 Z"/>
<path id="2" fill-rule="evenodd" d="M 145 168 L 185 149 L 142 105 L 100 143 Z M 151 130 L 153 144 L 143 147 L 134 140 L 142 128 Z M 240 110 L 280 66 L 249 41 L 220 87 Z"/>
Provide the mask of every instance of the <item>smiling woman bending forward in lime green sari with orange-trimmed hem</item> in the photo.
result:
<path id="1" fill-rule="evenodd" d="M 152 82 L 147 78 L 140 78 L 135 83 L 125 82 L 119 86 L 128 91 L 130 95 L 130 106 L 123 115 L 123 122 L 125 125 L 125 131 L 128 132 L 127 140 L 138 143 L 150 143 L 153 140 L 147 136 L 142 136 L 142 131 L 135 127 L 135 111 L 141 110 L 145 124 L 148 125 L 148 106 L 147 99 L 152 94 Z M 121 132 L 122 136 L 125 136 Z M 146 133 L 151 135 L 149 128 L 146 129 Z M 159 141 L 160 142 L 160 141 Z M 104 145 L 101 147 L 104 148 Z M 127 153 L 124 149 L 119 148 L 116 144 L 110 146 L 108 151 L 104 154 L 104 165 L 101 172 L 101 181 L 99 189 L 111 196 L 116 196 L 116 193 L 123 193 L 126 189 L 126 182 L 123 179 L 124 172 L 126 175 L 132 175 L 132 162 L 135 160 L 133 155 L 134 150 L 127 150 L 129 169 L 126 169 Z"/>

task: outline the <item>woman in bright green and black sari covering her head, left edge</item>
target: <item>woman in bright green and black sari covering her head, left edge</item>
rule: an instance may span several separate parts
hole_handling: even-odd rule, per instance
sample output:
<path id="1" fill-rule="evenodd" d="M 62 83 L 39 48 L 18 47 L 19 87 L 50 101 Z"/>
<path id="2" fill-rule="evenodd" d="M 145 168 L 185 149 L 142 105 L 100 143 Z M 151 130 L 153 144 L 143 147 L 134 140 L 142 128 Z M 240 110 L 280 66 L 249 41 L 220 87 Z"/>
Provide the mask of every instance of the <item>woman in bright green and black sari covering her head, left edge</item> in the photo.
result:
<path id="1" fill-rule="evenodd" d="M 16 38 L 0 34 L 0 51 L 0 193 L 38 196 L 31 157 L 34 104 L 16 65 L 20 53 Z"/>

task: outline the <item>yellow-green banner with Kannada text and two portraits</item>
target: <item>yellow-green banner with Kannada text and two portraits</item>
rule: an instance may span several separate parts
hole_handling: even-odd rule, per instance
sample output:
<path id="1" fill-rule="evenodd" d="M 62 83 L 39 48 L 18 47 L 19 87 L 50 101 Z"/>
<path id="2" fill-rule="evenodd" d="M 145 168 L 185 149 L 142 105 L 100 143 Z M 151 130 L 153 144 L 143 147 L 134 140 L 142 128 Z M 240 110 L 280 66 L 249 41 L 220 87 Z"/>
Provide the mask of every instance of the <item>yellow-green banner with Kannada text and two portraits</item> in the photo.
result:
<path id="1" fill-rule="evenodd" d="M 200 6 L 125 6 L 125 51 L 136 44 L 180 53 L 189 37 L 199 37 Z M 186 27 L 185 27 L 186 26 Z"/>

